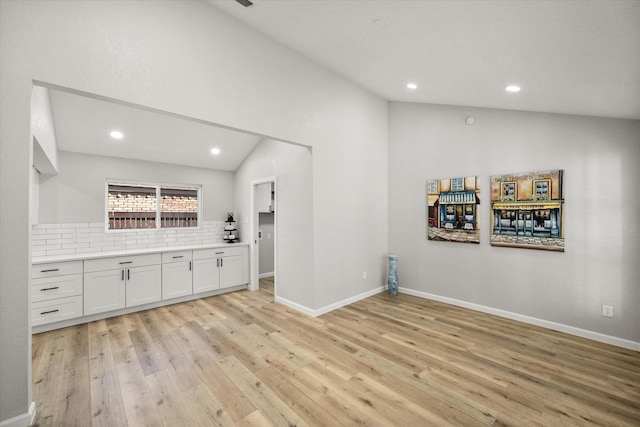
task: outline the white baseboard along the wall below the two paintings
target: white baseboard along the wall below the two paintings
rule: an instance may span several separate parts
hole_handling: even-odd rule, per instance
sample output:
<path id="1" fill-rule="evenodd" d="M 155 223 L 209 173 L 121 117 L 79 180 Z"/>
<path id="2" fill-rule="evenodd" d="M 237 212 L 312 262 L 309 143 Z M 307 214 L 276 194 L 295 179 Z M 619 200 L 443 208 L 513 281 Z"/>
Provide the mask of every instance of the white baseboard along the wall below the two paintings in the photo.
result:
<path id="1" fill-rule="evenodd" d="M 594 341 L 603 342 L 606 344 L 615 345 L 618 347 L 628 348 L 629 350 L 640 351 L 640 342 L 627 340 L 624 338 L 618 338 L 611 335 L 601 334 L 599 332 L 588 331 L 586 329 L 576 328 L 574 326 L 565 325 L 562 323 L 551 322 L 548 320 L 538 319 L 536 317 L 525 316 L 510 311 L 500 310 L 493 307 L 487 307 L 480 304 L 475 304 L 467 301 L 461 301 L 454 298 L 443 297 L 440 295 L 430 294 L 427 292 L 416 291 L 408 288 L 399 288 L 399 292 L 407 295 L 413 295 L 419 298 L 431 299 L 434 301 L 444 302 L 446 304 L 455 305 L 458 307 L 468 308 L 470 310 L 480 311 L 482 313 L 493 314 L 495 316 L 504 317 L 511 320 L 517 320 L 519 322 L 528 323 L 530 325 L 541 326 L 543 328 L 551 329 L 554 331 L 564 332 L 570 335 L 575 335 L 582 338 L 588 338 Z"/>

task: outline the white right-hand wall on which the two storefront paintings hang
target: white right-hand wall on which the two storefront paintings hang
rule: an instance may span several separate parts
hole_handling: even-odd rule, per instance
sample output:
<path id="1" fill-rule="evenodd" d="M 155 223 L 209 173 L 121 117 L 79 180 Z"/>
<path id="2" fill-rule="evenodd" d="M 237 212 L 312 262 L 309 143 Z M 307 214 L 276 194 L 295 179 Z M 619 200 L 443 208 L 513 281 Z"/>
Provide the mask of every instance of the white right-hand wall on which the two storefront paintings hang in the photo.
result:
<path id="1" fill-rule="evenodd" d="M 391 103 L 389 153 L 400 286 L 640 343 L 639 121 Z M 565 171 L 566 252 L 490 246 L 489 177 L 549 169 Z M 469 175 L 480 245 L 428 241 L 427 180 Z"/>

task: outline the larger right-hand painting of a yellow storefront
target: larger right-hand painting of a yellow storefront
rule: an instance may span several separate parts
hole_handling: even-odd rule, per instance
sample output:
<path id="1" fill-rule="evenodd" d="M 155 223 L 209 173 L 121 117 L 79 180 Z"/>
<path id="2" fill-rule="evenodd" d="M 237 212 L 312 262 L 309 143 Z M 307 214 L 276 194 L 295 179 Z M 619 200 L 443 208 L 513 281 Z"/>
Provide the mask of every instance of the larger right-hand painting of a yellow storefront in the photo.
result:
<path id="1" fill-rule="evenodd" d="M 562 170 L 491 177 L 491 244 L 564 252 Z"/>

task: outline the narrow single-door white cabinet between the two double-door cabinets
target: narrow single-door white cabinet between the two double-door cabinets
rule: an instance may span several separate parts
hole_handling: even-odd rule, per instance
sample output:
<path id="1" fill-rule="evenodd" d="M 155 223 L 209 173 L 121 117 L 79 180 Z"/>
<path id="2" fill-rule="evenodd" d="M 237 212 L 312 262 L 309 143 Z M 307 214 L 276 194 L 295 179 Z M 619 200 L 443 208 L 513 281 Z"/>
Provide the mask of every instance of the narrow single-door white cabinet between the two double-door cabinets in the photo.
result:
<path id="1" fill-rule="evenodd" d="M 162 299 L 193 293 L 193 263 L 191 251 L 162 254 Z"/>

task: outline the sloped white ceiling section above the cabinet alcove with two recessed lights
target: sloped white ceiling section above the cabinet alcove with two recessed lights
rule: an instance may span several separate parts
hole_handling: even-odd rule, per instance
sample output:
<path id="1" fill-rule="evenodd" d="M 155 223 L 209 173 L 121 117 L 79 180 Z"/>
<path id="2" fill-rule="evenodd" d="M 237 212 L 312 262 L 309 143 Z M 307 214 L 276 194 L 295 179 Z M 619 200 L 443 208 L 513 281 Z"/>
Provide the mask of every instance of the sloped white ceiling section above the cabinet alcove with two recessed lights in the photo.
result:
<path id="1" fill-rule="evenodd" d="M 58 149 L 234 171 L 261 136 L 49 89 Z M 121 140 L 109 134 L 119 130 Z M 211 149 L 220 149 L 220 155 Z"/>

